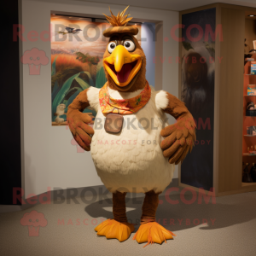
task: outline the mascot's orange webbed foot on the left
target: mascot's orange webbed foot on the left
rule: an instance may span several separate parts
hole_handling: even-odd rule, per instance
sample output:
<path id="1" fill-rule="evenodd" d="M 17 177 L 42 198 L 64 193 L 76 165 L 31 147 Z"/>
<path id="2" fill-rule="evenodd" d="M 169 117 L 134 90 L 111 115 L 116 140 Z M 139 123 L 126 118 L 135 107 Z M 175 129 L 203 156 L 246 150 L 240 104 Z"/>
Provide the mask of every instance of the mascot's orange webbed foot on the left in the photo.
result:
<path id="1" fill-rule="evenodd" d="M 120 223 L 114 219 L 107 219 L 95 228 L 98 236 L 106 238 L 116 238 L 119 241 L 125 241 L 134 231 L 134 225 L 130 223 Z"/>

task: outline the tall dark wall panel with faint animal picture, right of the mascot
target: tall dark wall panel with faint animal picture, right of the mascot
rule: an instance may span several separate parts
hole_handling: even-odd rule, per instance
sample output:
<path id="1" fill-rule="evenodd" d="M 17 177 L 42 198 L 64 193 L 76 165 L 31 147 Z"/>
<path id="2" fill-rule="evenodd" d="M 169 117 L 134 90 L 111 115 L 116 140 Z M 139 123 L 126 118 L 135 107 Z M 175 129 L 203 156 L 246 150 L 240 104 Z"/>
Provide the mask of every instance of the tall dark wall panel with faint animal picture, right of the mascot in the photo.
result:
<path id="1" fill-rule="evenodd" d="M 216 9 L 182 16 L 182 100 L 197 125 L 195 147 L 181 166 L 181 183 L 213 187 L 213 125 Z"/>

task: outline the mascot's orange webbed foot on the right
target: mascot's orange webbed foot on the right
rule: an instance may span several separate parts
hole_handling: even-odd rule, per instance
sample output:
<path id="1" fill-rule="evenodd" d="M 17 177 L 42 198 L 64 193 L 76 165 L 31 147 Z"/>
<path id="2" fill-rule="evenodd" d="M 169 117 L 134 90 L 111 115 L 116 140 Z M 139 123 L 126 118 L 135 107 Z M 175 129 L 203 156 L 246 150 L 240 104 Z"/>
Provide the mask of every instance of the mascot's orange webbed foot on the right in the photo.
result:
<path id="1" fill-rule="evenodd" d="M 135 236 L 133 236 L 133 240 L 136 240 L 138 243 L 148 242 L 144 247 L 148 244 L 152 244 L 154 242 L 161 244 L 163 241 L 166 242 L 168 239 L 173 239 L 172 236 L 176 236 L 171 231 L 166 230 L 157 222 L 148 222 L 146 224 L 141 224 L 139 229 L 137 230 Z"/>

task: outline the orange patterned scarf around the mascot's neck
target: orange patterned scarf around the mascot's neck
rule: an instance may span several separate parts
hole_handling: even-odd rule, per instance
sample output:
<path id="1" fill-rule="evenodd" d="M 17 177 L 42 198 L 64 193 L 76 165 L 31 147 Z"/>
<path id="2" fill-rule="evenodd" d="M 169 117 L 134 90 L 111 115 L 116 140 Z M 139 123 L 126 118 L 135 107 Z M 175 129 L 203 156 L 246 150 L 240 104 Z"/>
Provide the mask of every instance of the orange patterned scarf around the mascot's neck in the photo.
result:
<path id="1" fill-rule="evenodd" d="M 151 96 L 151 89 L 146 81 L 143 91 L 131 99 L 113 99 L 108 93 L 108 83 L 104 84 L 99 92 L 99 100 L 102 113 L 137 113 L 149 101 Z"/>

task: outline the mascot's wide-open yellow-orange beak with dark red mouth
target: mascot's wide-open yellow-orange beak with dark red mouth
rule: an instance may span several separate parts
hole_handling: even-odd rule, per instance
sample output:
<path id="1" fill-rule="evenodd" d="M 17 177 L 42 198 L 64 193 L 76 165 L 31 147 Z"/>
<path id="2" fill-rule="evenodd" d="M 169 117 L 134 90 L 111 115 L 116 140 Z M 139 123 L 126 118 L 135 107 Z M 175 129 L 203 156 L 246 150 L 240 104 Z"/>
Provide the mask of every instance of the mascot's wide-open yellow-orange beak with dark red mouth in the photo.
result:
<path id="1" fill-rule="evenodd" d="M 103 60 L 103 65 L 114 83 L 123 87 L 131 82 L 142 67 L 142 56 L 131 55 L 123 45 L 118 45 Z"/>

